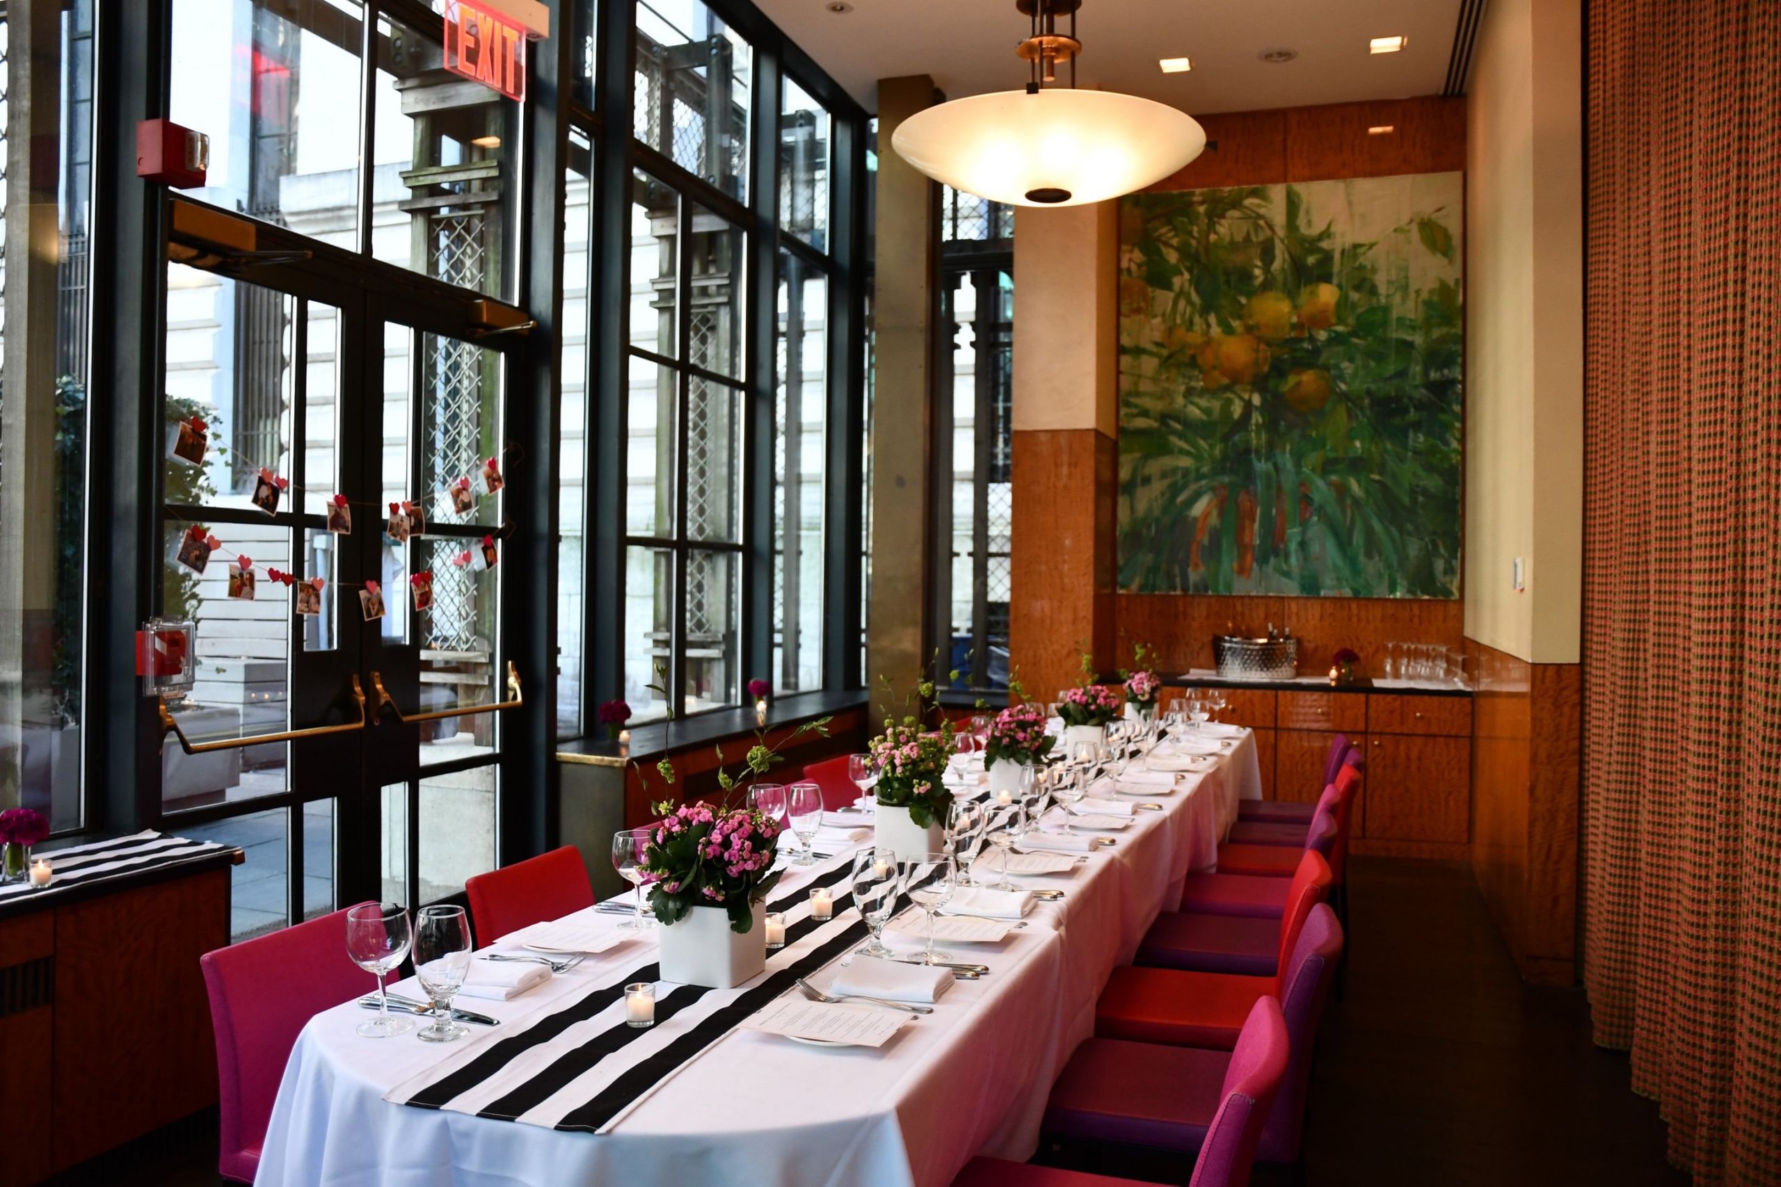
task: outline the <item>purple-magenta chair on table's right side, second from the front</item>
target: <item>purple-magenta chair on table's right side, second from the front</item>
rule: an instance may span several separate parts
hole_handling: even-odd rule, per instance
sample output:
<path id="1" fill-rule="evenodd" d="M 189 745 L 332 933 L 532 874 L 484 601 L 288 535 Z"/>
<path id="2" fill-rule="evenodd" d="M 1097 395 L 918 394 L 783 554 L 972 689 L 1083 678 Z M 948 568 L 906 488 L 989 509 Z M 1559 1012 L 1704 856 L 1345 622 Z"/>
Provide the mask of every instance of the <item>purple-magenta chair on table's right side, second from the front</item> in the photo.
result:
<path id="1" fill-rule="evenodd" d="M 1263 1162 L 1298 1160 L 1311 1052 L 1341 947 L 1336 913 L 1327 904 L 1318 904 L 1293 949 L 1293 973 L 1286 982 L 1282 1011 L 1291 1064 L 1261 1132 L 1257 1157 Z M 1248 1023 L 1238 1039 L 1238 1052 L 1247 1039 Z M 1236 1054 L 1086 1039 L 1051 1089 L 1045 1134 L 1072 1143 L 1117 1143 L 1191 1153 L 1206 1141 L 1220 1093 L 1231 1091 L 1234 1064 Z"/>

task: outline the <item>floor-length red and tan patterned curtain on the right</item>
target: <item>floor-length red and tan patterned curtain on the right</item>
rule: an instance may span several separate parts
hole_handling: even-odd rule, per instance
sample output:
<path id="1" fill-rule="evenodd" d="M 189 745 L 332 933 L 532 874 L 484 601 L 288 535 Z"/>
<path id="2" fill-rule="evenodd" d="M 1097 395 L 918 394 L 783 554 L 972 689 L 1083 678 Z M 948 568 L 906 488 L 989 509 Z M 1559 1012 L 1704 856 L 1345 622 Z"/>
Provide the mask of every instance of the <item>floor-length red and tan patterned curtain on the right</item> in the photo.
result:
<path id="1" fill-rule="evenodd" d="M 1781 1183 L 1781 0 L 1589 5 L 1583 975 L 1699 1183 Z"/>

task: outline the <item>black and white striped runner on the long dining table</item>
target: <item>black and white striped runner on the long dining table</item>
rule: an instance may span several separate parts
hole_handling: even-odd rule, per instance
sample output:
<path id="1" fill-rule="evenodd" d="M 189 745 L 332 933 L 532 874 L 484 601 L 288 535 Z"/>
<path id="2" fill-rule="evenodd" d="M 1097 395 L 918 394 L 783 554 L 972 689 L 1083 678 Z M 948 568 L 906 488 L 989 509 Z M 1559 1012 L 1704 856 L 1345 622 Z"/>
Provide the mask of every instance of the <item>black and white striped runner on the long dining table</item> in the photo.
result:
<path id="1" fill-rule="evenodd" d="M 657 989 L 655 1025 L 625 1025 L 623 986 L 659 981 L 655 961 L 604 977 L 579 998 L 488 1034 L 420 1075 L 385 1093 L 385 1100 L 479 1118 L 522 1121 L 557 1130 L 609 1130 L 655 1086 L 698 1057 L 737 1023 L 789 989 L 794 981 L 846 956 L 866 940 L 851 884 L 834 899 L 830 920 L 810 918 L 812 886 L 850 883 L 853 851 L 817 867 L 817 876 L 768 900 L 785 913 L 785 947 L 768 954 L 766 977 L 734 989 L 671 986 Z M 903 909 L 903 904 L 898 904 Z"/>

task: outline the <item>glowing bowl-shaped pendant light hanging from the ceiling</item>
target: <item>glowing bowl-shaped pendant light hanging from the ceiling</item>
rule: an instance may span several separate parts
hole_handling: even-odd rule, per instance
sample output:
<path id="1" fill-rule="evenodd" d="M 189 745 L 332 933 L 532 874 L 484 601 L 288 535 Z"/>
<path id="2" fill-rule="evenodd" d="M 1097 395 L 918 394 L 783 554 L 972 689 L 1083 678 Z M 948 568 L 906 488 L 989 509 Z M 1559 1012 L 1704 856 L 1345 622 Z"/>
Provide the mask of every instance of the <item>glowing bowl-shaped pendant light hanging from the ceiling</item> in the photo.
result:
<path id="1" fill-rule="evenodd" d="M 890 137 L 896 153 L 956 190 L 1015 206 L 1079 206 L 1131 194 L 1200 155 L 1206 130 L 1165 103 L 1078 91 L 1081 0 L 1015 0 L 1031 25 L 1024 91 L 972 94 L 921 110 Z M 1058 20 L 1069 16 L 1069 32 Z M 1054 85 L 1069 64 L 1070 85 Z"/>

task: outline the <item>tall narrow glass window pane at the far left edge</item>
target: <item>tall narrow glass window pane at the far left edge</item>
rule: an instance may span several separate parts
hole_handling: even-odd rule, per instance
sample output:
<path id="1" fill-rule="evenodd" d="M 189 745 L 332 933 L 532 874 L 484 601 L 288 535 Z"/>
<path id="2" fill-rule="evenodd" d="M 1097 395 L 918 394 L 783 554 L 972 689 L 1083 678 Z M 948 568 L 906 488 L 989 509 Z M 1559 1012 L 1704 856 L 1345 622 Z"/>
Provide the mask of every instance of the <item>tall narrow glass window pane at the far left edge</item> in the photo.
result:
<path id="1" fill-rule="evenodd" d="M 0 11 L 0 810 L 69 831 L 89 717 L 93 4 L 27 12 Z M 7 242 L 30 251 L 5 258 Z"/>

